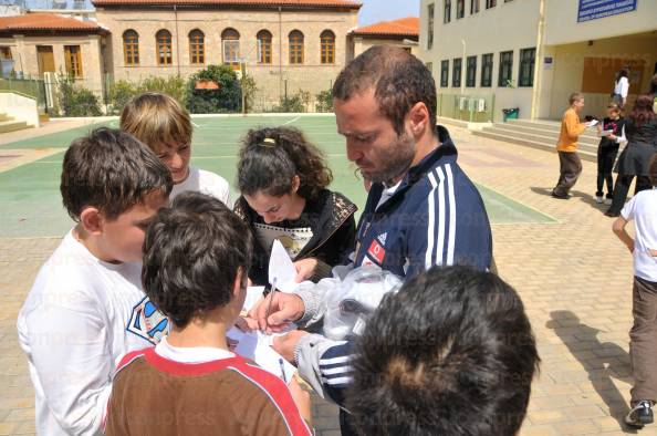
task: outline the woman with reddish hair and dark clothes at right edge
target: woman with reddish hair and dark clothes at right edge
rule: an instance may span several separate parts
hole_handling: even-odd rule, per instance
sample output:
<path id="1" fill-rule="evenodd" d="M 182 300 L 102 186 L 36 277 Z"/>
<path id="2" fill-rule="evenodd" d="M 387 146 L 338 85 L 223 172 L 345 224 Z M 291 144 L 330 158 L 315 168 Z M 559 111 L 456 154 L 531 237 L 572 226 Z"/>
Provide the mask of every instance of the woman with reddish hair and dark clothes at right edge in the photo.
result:
<path id="1" fill-rule="evenodd" d="M 649 189 L 648 165 L 657 152 L 657 115 L 653 111 L 653 96 L 639 95 L 634 103 L 630 114 L 625 121 L 625 137 L 627 146 L 618 156 L 616 163 L 616 185 L 612 206 L 605 212 L 608 217 L 618 217 L 627 199 L 632 180 L 636 177 L 635 195 Z"/>

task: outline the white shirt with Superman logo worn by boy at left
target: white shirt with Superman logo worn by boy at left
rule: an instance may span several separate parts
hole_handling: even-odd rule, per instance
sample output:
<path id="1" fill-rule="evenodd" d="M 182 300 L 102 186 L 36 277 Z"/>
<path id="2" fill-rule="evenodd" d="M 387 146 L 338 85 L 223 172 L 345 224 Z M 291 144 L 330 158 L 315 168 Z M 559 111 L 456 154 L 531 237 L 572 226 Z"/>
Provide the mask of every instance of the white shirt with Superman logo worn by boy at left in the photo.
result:
<path id="1" fill-rule="evenodd" d="M 140 272 L 98 260 L 72 232 L 41 267 L 18 318 L 39 435 L 100 433 L 121 359 L 168 333 Z"/>

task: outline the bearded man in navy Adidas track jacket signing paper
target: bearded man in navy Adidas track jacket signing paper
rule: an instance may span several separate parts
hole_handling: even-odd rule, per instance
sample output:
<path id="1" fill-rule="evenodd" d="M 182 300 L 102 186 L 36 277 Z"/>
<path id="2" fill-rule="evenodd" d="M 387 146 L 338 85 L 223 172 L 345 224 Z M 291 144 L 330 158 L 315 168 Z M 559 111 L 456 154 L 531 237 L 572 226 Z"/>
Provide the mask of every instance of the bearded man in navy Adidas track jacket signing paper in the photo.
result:
<path id="1" fill-rule="evenodd" d="M 352 267 L 372 264 L 410 278 L 435 264 L 487 270 L 492 237 L 479 191 L 457 164 L 446 128 L 436 127 L 436 84 L 415 56 L 374 46 L 341 72 L 333 87 L 337 129 L 347 158 L 373 183 L 358 224 Z M 261 329 L 321 320 L 323 294 L 277 292 L 252 314 Z M 342 405 L 350 383 L 352 343 L 294 331 L 274 349 L 300 374 Z M 346 428 L 343 426 L 343 432 Z"/>

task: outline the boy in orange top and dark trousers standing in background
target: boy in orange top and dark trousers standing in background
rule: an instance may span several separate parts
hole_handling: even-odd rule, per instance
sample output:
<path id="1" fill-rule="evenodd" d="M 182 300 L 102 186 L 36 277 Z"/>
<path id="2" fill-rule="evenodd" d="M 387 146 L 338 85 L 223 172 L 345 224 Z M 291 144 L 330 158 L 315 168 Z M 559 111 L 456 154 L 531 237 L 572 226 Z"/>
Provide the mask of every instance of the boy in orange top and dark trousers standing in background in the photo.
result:
<path id="1" fill-rule="evenodd" d="M 564 112 L 561 120 L 561 132 L 556 150 L 559 152 L 559 181 L 552 189 L 552 197 L 569 199 L 569 191 L 582 174 L 582 160 L 577 154 L 577 141 L 580 135 L 591 125 L 582 123 L 580 113 L 584 107 L 584 95 L 576 92 L 569 97 L 570 107 Z"/>

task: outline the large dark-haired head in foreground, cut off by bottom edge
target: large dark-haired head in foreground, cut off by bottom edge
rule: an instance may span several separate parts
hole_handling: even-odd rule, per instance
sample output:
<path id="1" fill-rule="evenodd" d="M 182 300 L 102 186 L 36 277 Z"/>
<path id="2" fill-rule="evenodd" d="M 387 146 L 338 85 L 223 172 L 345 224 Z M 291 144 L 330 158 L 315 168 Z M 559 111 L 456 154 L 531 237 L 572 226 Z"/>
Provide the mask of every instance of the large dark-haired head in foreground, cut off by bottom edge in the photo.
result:
<path id="1" fill-rule="evenodd" d="M 365 435 L 513 435 L 539 361 L 511 287 L 468 267 L 434 268 L 367 322 L 347 408 Z"/>

